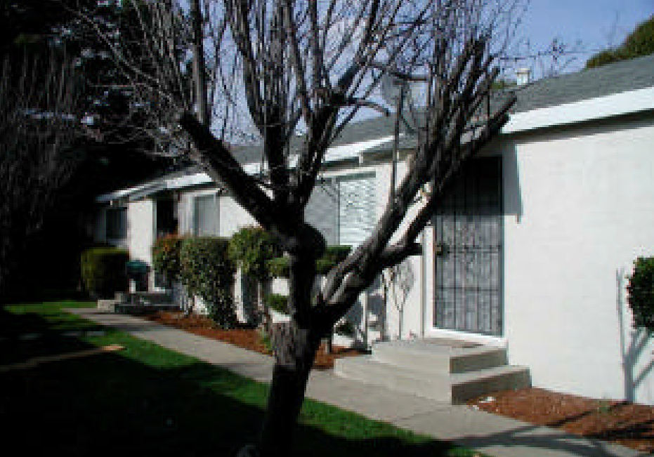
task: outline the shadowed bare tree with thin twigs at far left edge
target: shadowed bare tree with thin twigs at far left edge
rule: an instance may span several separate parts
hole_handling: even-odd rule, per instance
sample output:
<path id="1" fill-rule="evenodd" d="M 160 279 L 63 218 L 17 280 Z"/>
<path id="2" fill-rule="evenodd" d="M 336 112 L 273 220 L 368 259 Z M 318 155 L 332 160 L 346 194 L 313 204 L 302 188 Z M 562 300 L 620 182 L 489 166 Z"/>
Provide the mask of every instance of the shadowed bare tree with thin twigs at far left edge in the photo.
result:
<path id="1" fill-rule="evenodd" d="M 0 62 L 0 291 L 79 154 L 79 79 L 58 51 Z"/>

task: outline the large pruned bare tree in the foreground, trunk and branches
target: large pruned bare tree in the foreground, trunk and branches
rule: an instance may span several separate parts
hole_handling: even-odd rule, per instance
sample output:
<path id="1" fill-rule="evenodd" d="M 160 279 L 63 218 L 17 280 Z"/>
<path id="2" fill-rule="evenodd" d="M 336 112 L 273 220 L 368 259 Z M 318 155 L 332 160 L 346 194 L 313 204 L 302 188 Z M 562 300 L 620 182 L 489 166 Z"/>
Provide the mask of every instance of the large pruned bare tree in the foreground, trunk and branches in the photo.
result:
<path id="1" fill-rule="evenodd" d="M 271 336 L 276 363 L 261 455 L 289 452 L 321 338 L 385 268 L 421 253 L 417 237 L 447 183 L 506 122 L 513 98 L 491 103 L 490 95 L 517 4 L 193 0 L 194 93 L 185 92 L 188 71 L 173 58 L 186 13 L 171 1 L 141 4 L 150 21 L 141 16 L 154 72 L 142 72 L 123 48 L 112 46 L 117 65 L 153 107 L 150 131 L 170 135 L 181 127 L 178 151 L 228 189 L 290 258 L 292 319 Z M 79 17 L 98 28 L 88 13 Z M 313 296 L 325 239 L 306 223 L 304 211 L 327 148 L 351 119 L 362 108 L 388 114 L 376 98 L 384 74 L 424 87 L 424 102 L 410 107 L 417 147 L 372 234 Z M 164 109 L 154 110 L 153 100 Z M 261 144 L 263 178 L 248 175 L 228 144 L 249 127 Z M 192 141 L 188 150 L 184 138 Z M 430 192 L 417 198 L 426 185 Z"/>

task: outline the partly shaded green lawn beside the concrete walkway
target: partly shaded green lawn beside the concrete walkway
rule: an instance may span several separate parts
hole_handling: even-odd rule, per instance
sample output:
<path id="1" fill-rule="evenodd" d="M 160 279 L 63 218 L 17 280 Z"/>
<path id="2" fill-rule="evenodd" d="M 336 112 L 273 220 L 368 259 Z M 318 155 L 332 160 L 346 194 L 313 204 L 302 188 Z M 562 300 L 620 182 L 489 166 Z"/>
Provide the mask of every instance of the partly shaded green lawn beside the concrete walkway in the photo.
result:
<path id="1" fill-rule="evenodd" d="M 109 344 L 119 352 L 0 373 L 5 449 L 58 455 L 230 456 L 256 439 L 268 386 L 97 326 L 61 301 L 0 310 L 0 365 Z M 306 400 L 298 456 L 478 453 Z"/>

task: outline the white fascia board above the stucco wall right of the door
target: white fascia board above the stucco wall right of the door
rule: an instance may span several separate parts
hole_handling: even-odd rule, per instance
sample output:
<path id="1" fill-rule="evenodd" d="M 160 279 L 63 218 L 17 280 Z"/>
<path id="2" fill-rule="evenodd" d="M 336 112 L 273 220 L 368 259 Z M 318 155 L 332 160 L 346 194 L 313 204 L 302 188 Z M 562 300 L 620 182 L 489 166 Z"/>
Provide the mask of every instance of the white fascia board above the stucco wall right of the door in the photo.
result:
<path id="1" fill-rule="evenodd" d="M 502 133 L 563 126 L 654 109 L 654 87 L 511 114 Z"/>

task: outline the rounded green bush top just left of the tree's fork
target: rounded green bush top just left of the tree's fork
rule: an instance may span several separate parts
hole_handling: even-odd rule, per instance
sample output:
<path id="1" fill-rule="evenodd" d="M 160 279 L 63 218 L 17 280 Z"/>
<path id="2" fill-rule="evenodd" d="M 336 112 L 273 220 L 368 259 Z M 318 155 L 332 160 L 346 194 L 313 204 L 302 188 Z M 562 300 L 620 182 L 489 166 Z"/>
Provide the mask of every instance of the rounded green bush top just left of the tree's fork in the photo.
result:
<path id="1" fill-rule="evenodd" d="M 229 241 L 229 256 L 243 274 L 259 281 L 268 279 L 266 262 L 281 251 L 275 239 L 261 227 L 243 227 Z"/>

